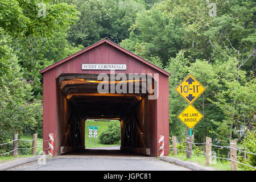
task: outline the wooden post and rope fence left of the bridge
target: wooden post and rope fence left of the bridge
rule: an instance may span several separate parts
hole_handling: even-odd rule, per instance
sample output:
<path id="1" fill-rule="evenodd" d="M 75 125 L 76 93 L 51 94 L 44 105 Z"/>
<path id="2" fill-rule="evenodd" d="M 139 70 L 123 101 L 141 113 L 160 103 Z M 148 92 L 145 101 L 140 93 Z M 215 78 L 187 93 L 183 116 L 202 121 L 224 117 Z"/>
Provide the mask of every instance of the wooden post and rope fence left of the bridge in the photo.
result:
<path id="1" fill-rule="evenodd" d="M 34 137 L 36 136 L 36 137 Z M 48 140 L 43 140 L 43 139 L 40 139 L 40 138 L 37 138 L 37 134 L 34 134 L 33 135 L 33 139 L 31 140 L 26 140 L 26 139 L 18 139 L 18 134 L 14 134 L 14 138 L 16 137 L 16 139 L 13 139 L 11 140 L 10 142 L 6 142 L 6 143 L 0 143 L 0 146 L 4 146 L 6 144 L 9 144 L 9 143 L 13 143 L 13 150 L 9 151 L 9 152 L 5 152 L 3 154 L 0 154 L 0 156 L 2 155 L 6 155 L 6 154 L 9 154 L 11 152 L 13 152 L 13 156 L 16 156 L 18 155 L 18 150 L 30 150 L 32 149 L 32 154 L 35 155 L 35 152 L 36 152 L 36 148 L 39 148 L 40 150 L 48 150 L 50 147 L 48 148 L 43 148 L 43 143 L 37 143 L 37 140 L 40 140 L 42 142 L 49 142 L 51 141 L 51 139 L 48 139 Z M 32 147 L 28 147 L 28 148 L 19 148 L 18 147 L 18 141 L 22 141 L 22 142 L 32 142 Z"/>

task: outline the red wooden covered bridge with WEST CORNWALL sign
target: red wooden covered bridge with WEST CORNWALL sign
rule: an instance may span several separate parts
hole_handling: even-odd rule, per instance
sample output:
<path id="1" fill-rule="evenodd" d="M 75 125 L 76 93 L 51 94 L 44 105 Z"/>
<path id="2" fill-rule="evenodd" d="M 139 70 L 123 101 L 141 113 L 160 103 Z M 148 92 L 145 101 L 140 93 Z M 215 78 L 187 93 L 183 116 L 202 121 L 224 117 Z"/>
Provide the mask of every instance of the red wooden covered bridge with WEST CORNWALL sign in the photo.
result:
<path id="1" fill-rule="evenodd" d="M 43 139 L 54 135 L 53 155 L 85 148 L 86 119 L 118 119 L 121 150 L 157 156 L 158 137 L 168 142 L 170 74 L 107 38 L 40 73 Z"/>

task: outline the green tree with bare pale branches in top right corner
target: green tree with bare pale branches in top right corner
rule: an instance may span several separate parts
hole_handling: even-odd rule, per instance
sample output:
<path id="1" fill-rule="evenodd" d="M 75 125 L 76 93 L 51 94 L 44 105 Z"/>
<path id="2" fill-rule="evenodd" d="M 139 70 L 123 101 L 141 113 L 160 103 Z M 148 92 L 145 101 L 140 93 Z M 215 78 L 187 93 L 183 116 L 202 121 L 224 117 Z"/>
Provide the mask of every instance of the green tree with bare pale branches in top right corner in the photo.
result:
<path id="1" fill-rule="evenodd" d="M 213 48 L 211 56 L 224 61 L 231 56 L 237 60 L 238 69 L 250 75 L 250 71 L 255 72 L 255 2 L 220 1 L 219 9 L 220 15 L 212 19 L 209 30 L 204 32 Z M 239 80 L 240 75 L 236 78 Z"/>

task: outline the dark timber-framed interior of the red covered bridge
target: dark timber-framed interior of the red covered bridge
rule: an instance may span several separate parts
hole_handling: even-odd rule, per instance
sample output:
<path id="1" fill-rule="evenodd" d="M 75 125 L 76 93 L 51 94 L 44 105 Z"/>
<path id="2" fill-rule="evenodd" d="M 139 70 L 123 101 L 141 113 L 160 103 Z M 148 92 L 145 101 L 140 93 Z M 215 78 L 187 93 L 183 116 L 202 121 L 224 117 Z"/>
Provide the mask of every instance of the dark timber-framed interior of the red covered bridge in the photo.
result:
<path id="1" fill-rule="evenodd" d="M 122 81 L 122 80 L 121 80 Z M 150 133 L 154 127 L 155 100 L 148 100 L 142 89 L 146 80 L 126 81 L 133 93 L 98 93 L 97 75 L 62 74 L 59 76 L 60 153 L 85 148 L 86 119 L 118 119 L 121 124 L 121 150 L 150 155 Z M 138 85 L 137 85 L 138 84 Z M 137 85 L 137 86 L 136 86 Z M 154 84 L 152 84 L 154 87 Z M 121 87 L 122 88 L 122 87 Z M 150 120 L 150 117 L 151 120 Z"/>

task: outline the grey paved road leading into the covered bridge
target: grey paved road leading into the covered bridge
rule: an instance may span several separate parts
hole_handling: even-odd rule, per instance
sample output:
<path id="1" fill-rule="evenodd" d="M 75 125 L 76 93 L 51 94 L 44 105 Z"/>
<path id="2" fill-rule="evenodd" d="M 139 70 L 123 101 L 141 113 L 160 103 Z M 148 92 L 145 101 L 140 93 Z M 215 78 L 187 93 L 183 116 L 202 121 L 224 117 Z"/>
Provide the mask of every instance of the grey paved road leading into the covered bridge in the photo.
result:
<path id="1" fill-rule="evenodd" d="M 102 149 L 102 148 L 101 148 Z M 46 159 L 46 164 L 37 161 L 9 170 L 17 171 L 189 171 L 145 155 L 118 150 L 119 147 L 104 147 L 104 150 L 84 151 Z"/>

